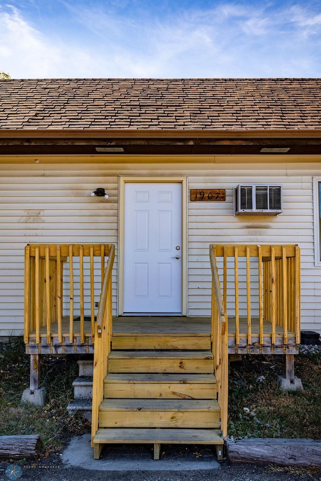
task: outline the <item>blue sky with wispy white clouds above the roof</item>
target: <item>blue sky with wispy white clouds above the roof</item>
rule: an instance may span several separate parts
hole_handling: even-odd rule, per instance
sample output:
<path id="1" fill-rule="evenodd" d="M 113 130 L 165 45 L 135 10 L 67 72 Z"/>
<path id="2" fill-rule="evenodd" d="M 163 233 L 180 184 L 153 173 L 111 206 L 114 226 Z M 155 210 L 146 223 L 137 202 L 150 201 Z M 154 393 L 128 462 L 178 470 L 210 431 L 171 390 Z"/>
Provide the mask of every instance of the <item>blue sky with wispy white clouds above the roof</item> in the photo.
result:
<path id="1" fill-rule="evenodd" d="M 317 0 L 0 0 L 12 78 L 321 77 Z"/>

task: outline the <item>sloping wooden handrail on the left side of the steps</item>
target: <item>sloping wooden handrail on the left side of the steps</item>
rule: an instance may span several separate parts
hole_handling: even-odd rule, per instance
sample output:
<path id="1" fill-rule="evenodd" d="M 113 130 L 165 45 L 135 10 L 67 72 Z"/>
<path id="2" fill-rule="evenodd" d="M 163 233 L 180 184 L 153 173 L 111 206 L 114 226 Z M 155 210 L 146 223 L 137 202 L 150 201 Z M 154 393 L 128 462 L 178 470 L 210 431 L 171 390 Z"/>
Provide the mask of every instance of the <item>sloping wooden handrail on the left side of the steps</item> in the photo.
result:
<path id="1" fill-rule="evenodd" d="M 92 393 L 91 445 L 98 429 L 99 406 L 103 399 L 104 379 L 108 369 L 112 336 L 112 292 L 111 272 L 115 257 L 115 248 L 111 247 L 103 280 L 103 286 L 95 325 L 94 371 Z"/>

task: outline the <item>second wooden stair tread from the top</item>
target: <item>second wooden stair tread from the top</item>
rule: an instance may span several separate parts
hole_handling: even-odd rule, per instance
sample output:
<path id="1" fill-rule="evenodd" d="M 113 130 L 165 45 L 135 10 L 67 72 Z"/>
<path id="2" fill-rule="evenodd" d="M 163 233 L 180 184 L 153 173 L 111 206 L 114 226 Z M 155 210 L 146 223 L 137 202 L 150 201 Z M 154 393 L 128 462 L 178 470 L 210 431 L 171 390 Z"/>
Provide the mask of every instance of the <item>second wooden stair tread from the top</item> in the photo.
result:
<path id="1" fill-rule="evenodd" d="M 214 374 L 108 373 L 105 382 L 216 384 Z"/>

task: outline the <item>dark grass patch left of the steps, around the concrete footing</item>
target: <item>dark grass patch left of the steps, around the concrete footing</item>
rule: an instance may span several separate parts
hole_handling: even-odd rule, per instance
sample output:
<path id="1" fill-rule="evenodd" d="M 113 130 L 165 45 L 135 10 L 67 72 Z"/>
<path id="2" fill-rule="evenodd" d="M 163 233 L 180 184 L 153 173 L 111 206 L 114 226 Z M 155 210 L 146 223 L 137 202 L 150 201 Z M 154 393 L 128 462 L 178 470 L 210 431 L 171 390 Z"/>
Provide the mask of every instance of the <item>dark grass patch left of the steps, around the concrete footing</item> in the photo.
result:
<path id="1" fill-rule="evenodd" d="M 72 399 L 72 382 L 77 377 L 75 356 L 41 356 L 41 379 L 46 405 L 20 404 L 29 387 L 30 356 L 21 337 L 0 344 L 0 434 L 40 434 L 42 456 L 58 452 L 70 435 L 89 430 L 80 417 L 69 417 L 66 407 Z"/>

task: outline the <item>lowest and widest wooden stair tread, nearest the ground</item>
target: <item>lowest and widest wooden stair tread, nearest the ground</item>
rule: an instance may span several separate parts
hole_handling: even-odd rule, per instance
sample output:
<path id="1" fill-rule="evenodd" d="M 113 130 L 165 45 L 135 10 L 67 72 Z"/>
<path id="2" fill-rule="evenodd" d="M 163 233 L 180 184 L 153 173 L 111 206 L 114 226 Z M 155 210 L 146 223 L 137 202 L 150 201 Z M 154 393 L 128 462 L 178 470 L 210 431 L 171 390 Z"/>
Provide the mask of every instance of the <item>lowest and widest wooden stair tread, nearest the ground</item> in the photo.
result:
<path id="1" fill-rule="evenodd" d="M 223 444 L 218 429 L 100 428 L 94 443 Z"/>

